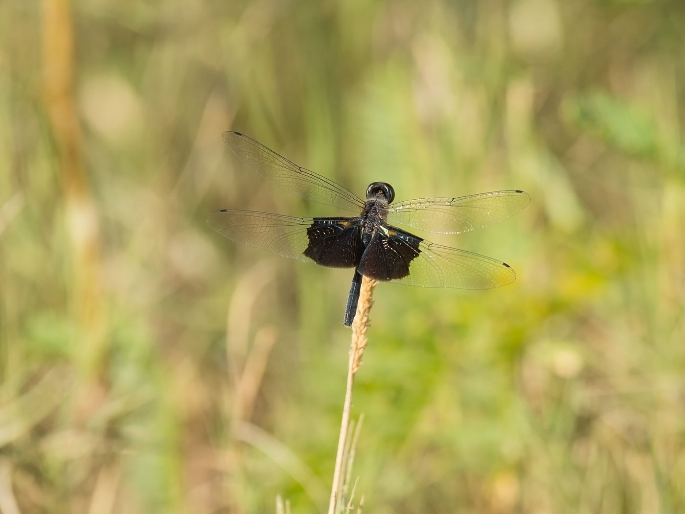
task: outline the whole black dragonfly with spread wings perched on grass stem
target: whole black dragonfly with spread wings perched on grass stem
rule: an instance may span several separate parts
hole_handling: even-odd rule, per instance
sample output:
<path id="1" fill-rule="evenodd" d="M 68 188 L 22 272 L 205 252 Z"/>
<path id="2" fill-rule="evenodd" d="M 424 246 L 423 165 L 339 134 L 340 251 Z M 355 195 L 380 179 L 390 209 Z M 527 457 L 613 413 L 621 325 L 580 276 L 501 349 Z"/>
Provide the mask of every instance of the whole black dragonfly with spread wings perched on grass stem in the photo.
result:
<path id="1" fill-rule="evenodd" d="M 222 209 L 209 225 L 232 241 L 282 257 L 332 268 L 353 268 L 343 324 L 351 326 L 362 277 L 411 286 L 490 289 L 510 284 L 506 262 L 426 241 L 395 225 L 462 234 L 503 221 L 530 203 L 519 189 L 462 197 L 419 198 L 393 203 L 395 190 L 372 182 L 366 199 L 265 147 L 240 132 L 223 140 L 240 162 L 292 195 L 334 206 L 347 216 L 300 218 Z"/>

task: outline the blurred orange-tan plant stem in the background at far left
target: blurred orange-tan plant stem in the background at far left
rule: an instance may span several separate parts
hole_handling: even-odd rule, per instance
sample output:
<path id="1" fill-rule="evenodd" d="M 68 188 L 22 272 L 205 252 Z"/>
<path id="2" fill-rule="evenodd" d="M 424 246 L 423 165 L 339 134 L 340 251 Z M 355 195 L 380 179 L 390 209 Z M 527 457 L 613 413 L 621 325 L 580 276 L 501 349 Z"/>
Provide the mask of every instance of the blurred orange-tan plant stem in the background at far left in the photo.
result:
<path id="1" fill-rule="evenodd" d="M 70 0 L 44 0 L 42 7 L 45 110 L 58 154 L 56 169 L 62 183 L 73 265 L 69 292 L 81 335 L 81 341 L 73 345 L 74 360 L 81 365 L 84 376 L 97 380 L 107 350 L 99 213 L 86 170 L 76 103 L 74 8 Z M 97 396 L 97 389 L 89 386 L 88 394 Z"/>

